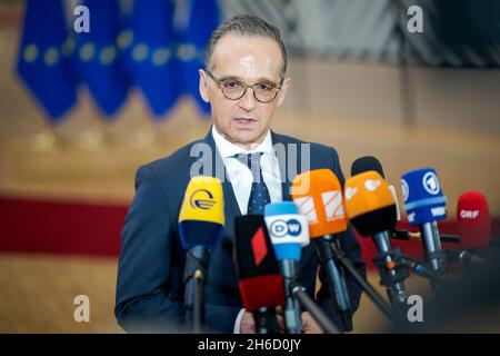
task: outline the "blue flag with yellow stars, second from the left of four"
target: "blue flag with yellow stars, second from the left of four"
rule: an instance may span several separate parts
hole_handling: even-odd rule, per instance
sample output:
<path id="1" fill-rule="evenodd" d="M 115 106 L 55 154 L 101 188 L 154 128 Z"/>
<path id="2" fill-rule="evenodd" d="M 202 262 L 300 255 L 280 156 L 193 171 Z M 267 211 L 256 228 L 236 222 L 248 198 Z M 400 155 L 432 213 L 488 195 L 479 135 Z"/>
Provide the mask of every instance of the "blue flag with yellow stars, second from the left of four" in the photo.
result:
<path id="1" fill-rule="evenodd" d="M 119 0 L 84 0 L 89 32 L 77 33 L 76 70 L 104 118 L 112 119 L 127 100 L 129 82 L 117 43 L 123 29 Z"/>

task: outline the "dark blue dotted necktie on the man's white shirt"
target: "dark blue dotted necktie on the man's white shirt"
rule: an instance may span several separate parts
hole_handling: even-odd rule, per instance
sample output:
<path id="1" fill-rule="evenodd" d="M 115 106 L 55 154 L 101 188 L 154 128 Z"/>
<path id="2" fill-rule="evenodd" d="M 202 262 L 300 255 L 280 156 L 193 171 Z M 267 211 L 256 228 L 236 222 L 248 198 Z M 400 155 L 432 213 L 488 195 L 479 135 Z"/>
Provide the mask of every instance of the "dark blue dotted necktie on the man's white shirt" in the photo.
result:
<path id="1" fill-rule="evenodd" d="M 263 215 L 263 208 L 271 202 L 268 187 L 262 177 L 262 169 L 260 167 L 261 152 L 249 155 L 237 155 L 238 160 L 247 165 L 252 172 L 253 182 L 250 190 L 250 199 L 248 200 L 247 214 Z"/>

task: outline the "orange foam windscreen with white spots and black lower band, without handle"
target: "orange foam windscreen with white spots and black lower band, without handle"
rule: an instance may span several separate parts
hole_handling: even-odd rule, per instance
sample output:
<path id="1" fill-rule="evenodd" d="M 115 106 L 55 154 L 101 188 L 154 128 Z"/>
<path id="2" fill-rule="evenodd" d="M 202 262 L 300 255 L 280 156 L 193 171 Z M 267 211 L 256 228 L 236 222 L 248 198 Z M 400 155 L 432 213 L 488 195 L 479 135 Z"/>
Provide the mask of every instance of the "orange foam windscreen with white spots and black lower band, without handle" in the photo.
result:
<path id="1" fill-rule="evenodd" d="M 387 181 L 370 170 L 349 178 L 344 189 L 346 210 L 362 236 L 393 229 L 396 201 Z"/>

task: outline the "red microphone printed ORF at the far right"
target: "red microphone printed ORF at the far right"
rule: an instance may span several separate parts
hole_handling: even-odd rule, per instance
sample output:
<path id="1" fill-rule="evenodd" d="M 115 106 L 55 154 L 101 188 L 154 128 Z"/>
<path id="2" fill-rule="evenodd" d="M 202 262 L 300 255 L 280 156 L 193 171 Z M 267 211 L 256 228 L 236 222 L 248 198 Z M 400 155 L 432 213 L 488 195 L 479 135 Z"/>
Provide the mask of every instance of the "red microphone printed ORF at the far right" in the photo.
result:
<path id="1" fill-rule="evenodd" d="M 491 217 L 488 200 L 480 191 L 462 194 L 457 204 L 457 221 L 463 250 L 447 249 L 448 258 L 464 264 L 486 264 L 487 260 L 468 249 L 488 247 L 491 237 Z"/>

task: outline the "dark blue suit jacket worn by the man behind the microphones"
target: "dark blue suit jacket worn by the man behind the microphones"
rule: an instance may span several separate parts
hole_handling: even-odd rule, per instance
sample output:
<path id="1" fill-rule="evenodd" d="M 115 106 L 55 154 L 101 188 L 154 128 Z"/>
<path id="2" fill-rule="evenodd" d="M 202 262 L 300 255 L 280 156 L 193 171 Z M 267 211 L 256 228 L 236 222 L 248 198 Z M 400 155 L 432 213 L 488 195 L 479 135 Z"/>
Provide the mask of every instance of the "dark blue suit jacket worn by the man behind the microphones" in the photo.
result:
<path id="1" fill-rule="evenodd" d="M 212 154 L 191 157 L 196 144 L 206 144 Z M 272 132 L 272 144 L 298 147 L 298 171 L 301 167 L 301 146 L 298 139 Z M 343 186 L 337 151 L 333 148 L 310 144 L 310 167 L 304 170 L 329 168 Z M 183 324 L 183 283 L 184 255 L 179 237 L 178 217 L 184 190 L 190 180 L 190 170 L 196 161 L 216 164 L 223 167 L 216 149 L 211 132 L 202 140 L 191 142 L 171 156 L 139 168 L 136 177 L 136 197 L 123 224 L 121 255 L 118 266 L 117 299 L 114 313 L 118 323 L 128 332 L 162 330 L 181 332 Z M 287 159 L 287 161 L 289 161 Z M 213 165 L 211 165 L 213 167 Z M 281 177 L 288 175 L 286 162 L 280 161 Z M 194 166 L 196 167 L 196 166 Z M 213 171 L 201 171 L 214 175 Z M 290 200 L 292 176 L 282 184 L 283 200 Z M 223 178 L 223 177 L 218 177 Z M 226 231 L 223 238 L 211 253 L 206 286 L 206 323 L 211 332 L 232 333 L 242 301 L 238 289 L 238 278 L 232 257 L 233 220 L 241 215 L 231 182 L 223 180 Z M 360 246 L 352 228 L 339 234 L 341 247 L 358 270 L 366 276 L 366 266 L 361 260 Z M 316 277 L 319 266 L 314 244 L 302 249 L 299 281 L 314 296 Z M 320 270 L 320 279 L 323 274 Z M 327 283 L 322 283 L 327 286 Z M 353 310 L 358 308 L 361 290 L 356 281 L 348 277 L 347 286 Z M 328 289 L 321 287 L 316 296 L 321 308 L 339 325 L 337 314 L 329 298 Z"/>

